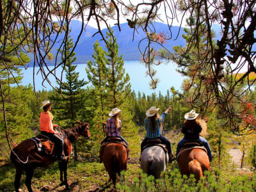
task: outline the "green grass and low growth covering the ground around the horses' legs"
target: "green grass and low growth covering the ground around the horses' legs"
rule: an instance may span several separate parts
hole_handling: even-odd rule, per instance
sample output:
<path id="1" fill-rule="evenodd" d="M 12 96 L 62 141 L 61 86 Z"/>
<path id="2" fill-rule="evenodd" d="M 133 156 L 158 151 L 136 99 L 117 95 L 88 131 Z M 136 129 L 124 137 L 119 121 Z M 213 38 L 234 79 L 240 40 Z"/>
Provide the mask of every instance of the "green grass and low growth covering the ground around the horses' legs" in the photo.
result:
<path id="1" fill-rule="evenodd" d="M 173 134 L 177 136 L 176 132 L 168 132 L 166 133 L 166 138 L 172 141 L 172 148 L 175 152 L 176 146 L 173 141 Z M 179 140 L 179 138 L 180 135 L 176 140 Z M 234 143 L 228 146 L 228 148 L 234 147 L 236 147 Z M 127 164 L 127 171 L 122 173 L 123 177 L 118 182 L 119 191 L 166 191 L 166 189 L 169 191 L 200 191 L 198 189 L 200 185 L 196 186 L 193 178 L 182 178 L 176 161 L 167 165 L 162 179 L 155 181 L 151 177 L 147 177 L 140 169 L 139 154 L 140 152 L 131 154 L 131 159 Z M 253 184 L 250 182 L 254 182 L 253 172 L 237 170 L 230 166 L 226 168 L 228 166 L 225 166 L 225 162 L 223 162 L 221 170 L 218 170 L 216 168 L 216 160 L 214 159 L 211 163 L 211 170 L 207 176 L 207 178 L 211 177 L 211 180 L 202 181 L 204 182 L 202 185 L 207 186 L 207 189 L 205 188 L 203 191 L 225 191 L 231 188 L 232 190 L 237 188 L 236 191 L 243 191 L 243 189 L 238 189 L 243 185 L 248 185 L 248 189 L 252 190 Z M 13 164 L 7 162 L 0 166 L 0 173 L 0 191 L 14 191 L 15 168 Z M 60 172 L 58 163 L 52 164 L 50 168 L 36 168 L 32 179 L 32 188 L 34 191 L 41 191 L 42 189 L 45 189 L 45 191 L 114 191 L 113 184 L 108 182 L 109 176 L 103 163 L 70 161 L 67 174 L 70 189 L 65 190 L 64 186 L 59 186 Z M 20 189 L 24 192 L 27 191 L 24 184 L 25 177 L 25 175 L 22 175 L 22 180 L 20 181 Z M 247 183 L 244 184 L 245 182 Z M 218 190 L 213 190 L 212 188 Z"/>

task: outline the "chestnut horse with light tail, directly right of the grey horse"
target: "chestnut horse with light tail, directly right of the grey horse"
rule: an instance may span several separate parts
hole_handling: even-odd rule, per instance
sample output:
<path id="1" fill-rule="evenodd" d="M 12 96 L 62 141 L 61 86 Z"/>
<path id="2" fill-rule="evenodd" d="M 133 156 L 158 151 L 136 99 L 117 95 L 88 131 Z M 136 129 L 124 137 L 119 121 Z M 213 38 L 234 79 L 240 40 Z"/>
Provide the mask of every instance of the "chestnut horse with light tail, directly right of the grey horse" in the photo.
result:
<path id="1" fill-rule="evenodd" d="M 207 133 L 207 125 L 204 120 L 200 120 L 202 126 L 201 136 L 205 136 Z M 180 150 L 177 157 L 179 163 L 180 173 L 183 175 L 195 175 L 195 179 L 199 180 L 204 176 L 204 171 L 209 170 L 210 161 L 207 152 L 204 148 L 191 147 L 184 150 Z"/>

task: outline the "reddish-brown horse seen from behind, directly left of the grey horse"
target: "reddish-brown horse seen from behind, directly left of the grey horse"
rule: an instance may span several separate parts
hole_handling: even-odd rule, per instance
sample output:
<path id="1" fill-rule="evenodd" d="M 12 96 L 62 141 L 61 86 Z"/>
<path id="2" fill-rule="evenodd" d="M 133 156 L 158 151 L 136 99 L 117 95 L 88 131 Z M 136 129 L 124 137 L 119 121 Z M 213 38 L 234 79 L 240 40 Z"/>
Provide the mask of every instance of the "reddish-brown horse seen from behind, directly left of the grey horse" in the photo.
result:
<path id="1" fill-rule="evenodd" d="M 112 180 L 116 186 L 116 173 L 120 176 L 122 170 L 127 170 L 127 150 L 120 143 L 109 143 L 102 152 L 102 161 L 109 174 L 109 181 Z"/>

